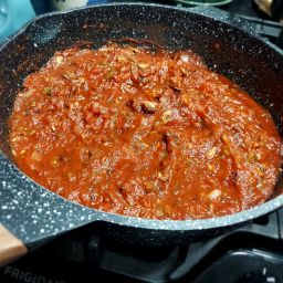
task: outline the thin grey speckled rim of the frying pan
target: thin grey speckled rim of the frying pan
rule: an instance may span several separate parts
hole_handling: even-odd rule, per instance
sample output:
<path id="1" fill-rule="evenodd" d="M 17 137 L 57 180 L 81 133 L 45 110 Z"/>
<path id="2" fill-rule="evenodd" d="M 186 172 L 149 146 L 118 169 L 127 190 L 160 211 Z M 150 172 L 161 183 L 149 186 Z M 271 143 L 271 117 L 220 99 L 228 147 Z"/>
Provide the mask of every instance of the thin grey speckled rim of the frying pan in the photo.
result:
<path id="1" fill-rule="evenodd" d="M 46 14 L 42 14 L 40 17 L 36 17 L 35 19 L 29 21 L 22 29 L 20 29 L 17 33 L 14 33 L 13 35 L 9 36 L 3 44 L 0 46 L 0 52 L 13 40 L 15 40 L 18 38 L 18 35 L 20 35 L 21 33 L 23 33 L 28 27 L 30 27 L 31 24 L 35 23 L 38 20 L 46 18 L 46 17 L 53 17 L 56 14 L 62 14 L 62 13 L 72 13 L 72 12 L 76 12 L 76 11 L 82 11 L 82 10 L 87 10 L 87 9 L 96 9 L 96 8 L 103 8 L 103 7 L 123 7 L 123 6 L 127 6 L 127 7 L 146 7 L 148 8 L 159 8 L 159 9 L 169 9 L 169 10 L 177 10 L 177 11 L 182 11 L 185 13 L 195 13 L 198 15 L 202 15 L 202 17 L 207 17 L 210 19 L 213 19 L 212 17 L 206 15 L 206 14 L 201 14 L 198 12 L 198 10 L 193 9 L 181 9 L 181 8 L 176 8 L 176 7 L 170 7 L 170 6 L 164 6 L 164 4 L 155 4 L 155 3 L 108 3 L 108 4 L 97 4 L 97 6 L 88 6 L 88 7 L 84 7 L 84 8 L 75 8 L 75 9 L 70 9 L 63 12 L 50 12 Z M 227 24 L 229 24 L 228 22 L 226 22 L 224 20 L 221 19 L 214 19 L 217 21 L 222 21 Z M 232 25 L 233 28 L 237 28 L 234 25 Z M 239 29 L 239 28 L 238 28 Z M 241 30 L 243 33 L 248 33 L 248 31 L 243 31 Z M 283 51 L 280 50 L 279 48 L 276 48 L 274 44 L 266 42 L 265 40 L 261 39 L 259 35 L 256 35 L 255 33 L 253 34 L 249 34 L 251 36 L 256 38 L 258 40 L 262 41 L 263 43 L 265 43 L 266 45 L 269 45 L 271 49 L 273 49 L 275 52 L 277 52 L 280 55 L 283 55 Z M 21 175 L 27 176 L 25 174 L 23 174 L 21 170 L 19 170 L 18 167 L 15 167 L 15 165 L 13 163 L 11 163 L 7 156 L 0 150 L 0 155 L 3 156 L 3 158 L 6 159 L 6 161 L 11 166 L 13 166 Z M 29 178 L 30 179 L 30 178 Z M 109 212 L 104 212 L 104 211 L 99 211 L 96 209 L 92 209 L 92 208 L 87 208 L 84 207 L 80 203 L 75 203 L 73 201 L 70 201 L 67 199 L 62 198 L 61 196 L 45 189 L 44 187 L 38 185 L 35 181 L 33 181 L 32 179 L 30 179 L 31 182 L 33 185 L 35 185 L 36 187 L 41 188 L 42 190 L 44 190 L 44 192 L 51 193 L 53 195 L 55 198 L 60 198 L 63 199 L 66 202 L 72 202 L 73 205 L 77 206 L 78 208 L 83 209 L 84 211 L 94 211 L 96 212 L 96 221 L 106 221 L 106 222 L 111 222 L 111 223 L 116 223 L 119 226 L 126 226 L 126 227 L 137 227 L 137 228 L 143 228 L 143 229 L 151 229 L 151 230 L 180 230 L 180 231 L 192 231 L 192 230 L 208 230 L 208 229 L 214 229 L 214 228 L 224 228 L 224 227 L 230 227 L 233 224 L 238 224 L 238 223 L 242 223 L 249 220 L 252 220 L 254 218 L 261 217 L 263 214 L 266 214 L 269 212 L 272 212 L 276 209 L 279 209 L 280 207 L 283 206 L 283 195 L 275 197 L 274 199 L 271 199 L 264 203 L 261 203 L 259 206 L 255 206 L 253 208 L 250 208 L 248 210 L 244 211 L 240 211 L 237 213 L 232 213 L 232 214 L 227 214 L 223 217 L 217 217 L 217 218 L 209 218 L 209 219 L 188 219 L 188 220 L 155 220 L 155 219 L 144 219 L 144 218 L 137 218 L 137 217 L 127 217 L 127 216 L 122 216 L 122 214 L 115 214 L 115 213 L 109 213 Z"/>

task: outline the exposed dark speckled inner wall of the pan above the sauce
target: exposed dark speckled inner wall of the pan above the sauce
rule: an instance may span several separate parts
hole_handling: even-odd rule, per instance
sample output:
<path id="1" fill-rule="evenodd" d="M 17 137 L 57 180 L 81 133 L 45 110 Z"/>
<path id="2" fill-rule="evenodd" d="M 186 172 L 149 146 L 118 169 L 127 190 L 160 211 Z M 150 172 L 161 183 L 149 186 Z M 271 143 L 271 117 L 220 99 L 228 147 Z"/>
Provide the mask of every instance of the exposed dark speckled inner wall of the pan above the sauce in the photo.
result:
<path id="1" fill-rule="evenodd" d="M 102 6 L 44 15 L 0 50 L 0 150 L 11 160 L 8 117 L 23 78 L 55 51 L 77 42 L 99 48 L 132 38 L 170 50 L 191 49 L 272 114 L 283 134 L 283 53 L 229 23 L 159 6 Z M 11 160 L 12 161 L 12 160 Z M 281 193 L 279 181 L 274 196 Z"/>

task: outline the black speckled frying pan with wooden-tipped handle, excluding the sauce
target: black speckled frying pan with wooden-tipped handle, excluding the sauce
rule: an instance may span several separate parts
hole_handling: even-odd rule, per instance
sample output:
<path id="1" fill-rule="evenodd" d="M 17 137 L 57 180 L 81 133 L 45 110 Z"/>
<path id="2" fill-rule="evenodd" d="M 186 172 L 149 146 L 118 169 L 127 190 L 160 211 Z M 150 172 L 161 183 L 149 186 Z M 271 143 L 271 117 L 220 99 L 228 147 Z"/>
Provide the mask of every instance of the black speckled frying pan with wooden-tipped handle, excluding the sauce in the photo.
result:
<path id="1" fill-rule="evenodd" d="M 223 233 L 283 205 L 280 179 L 269 201 L 243 212 L 203 220 L 146 220 L 73 203 L 39 186 L 13 165 L 7 118 L 23 78 L 55 51 L 77 41 L 98 48 L 120 38 L 153 41 L 171 50 L 191 49 L 268 108 L 283 133 L 283 52 L 229 13 L 119 3 L 40 17 L 0 49 L 1 264 L 86 224 L 115 241 L 149 247 L 179 244 Z"/>

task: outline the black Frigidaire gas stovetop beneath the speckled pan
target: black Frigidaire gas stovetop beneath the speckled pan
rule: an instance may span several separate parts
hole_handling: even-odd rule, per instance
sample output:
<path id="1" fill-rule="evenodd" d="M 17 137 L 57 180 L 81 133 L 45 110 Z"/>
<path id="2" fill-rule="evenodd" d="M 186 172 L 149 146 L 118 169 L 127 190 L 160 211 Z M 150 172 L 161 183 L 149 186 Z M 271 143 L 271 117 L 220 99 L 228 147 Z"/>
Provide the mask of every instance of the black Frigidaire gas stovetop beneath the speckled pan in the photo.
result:
<path id="1" fill-rule="evenodd" d="M 44 1 L 31 2 L 36 14 L 46 12 Z M 238 13 L 262 36 L 283 48 L 283 23 L 261 13 L 253 1 L 234 0 L 221 9 Z M 283 209 L 214 239 L 161 249 L 120 245 L 98 238 L 86 227 L 2 268 L 0 282 L 280 283 L 283 282 Z"/>

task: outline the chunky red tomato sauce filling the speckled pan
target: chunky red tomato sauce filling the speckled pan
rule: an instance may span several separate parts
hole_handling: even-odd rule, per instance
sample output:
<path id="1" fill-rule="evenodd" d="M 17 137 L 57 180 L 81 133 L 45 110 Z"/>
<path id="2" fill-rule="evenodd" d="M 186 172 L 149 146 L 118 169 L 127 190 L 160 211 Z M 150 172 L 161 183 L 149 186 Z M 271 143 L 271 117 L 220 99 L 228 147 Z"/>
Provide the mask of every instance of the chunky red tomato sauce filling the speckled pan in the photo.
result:
<path id="1" fill-rule="evenodd" d="M 57 52 L 10 117 L 21 170 L 98 210 L 199 219 L 265 201 L 281 166 L 271 115 L 189 51 Z"/>

